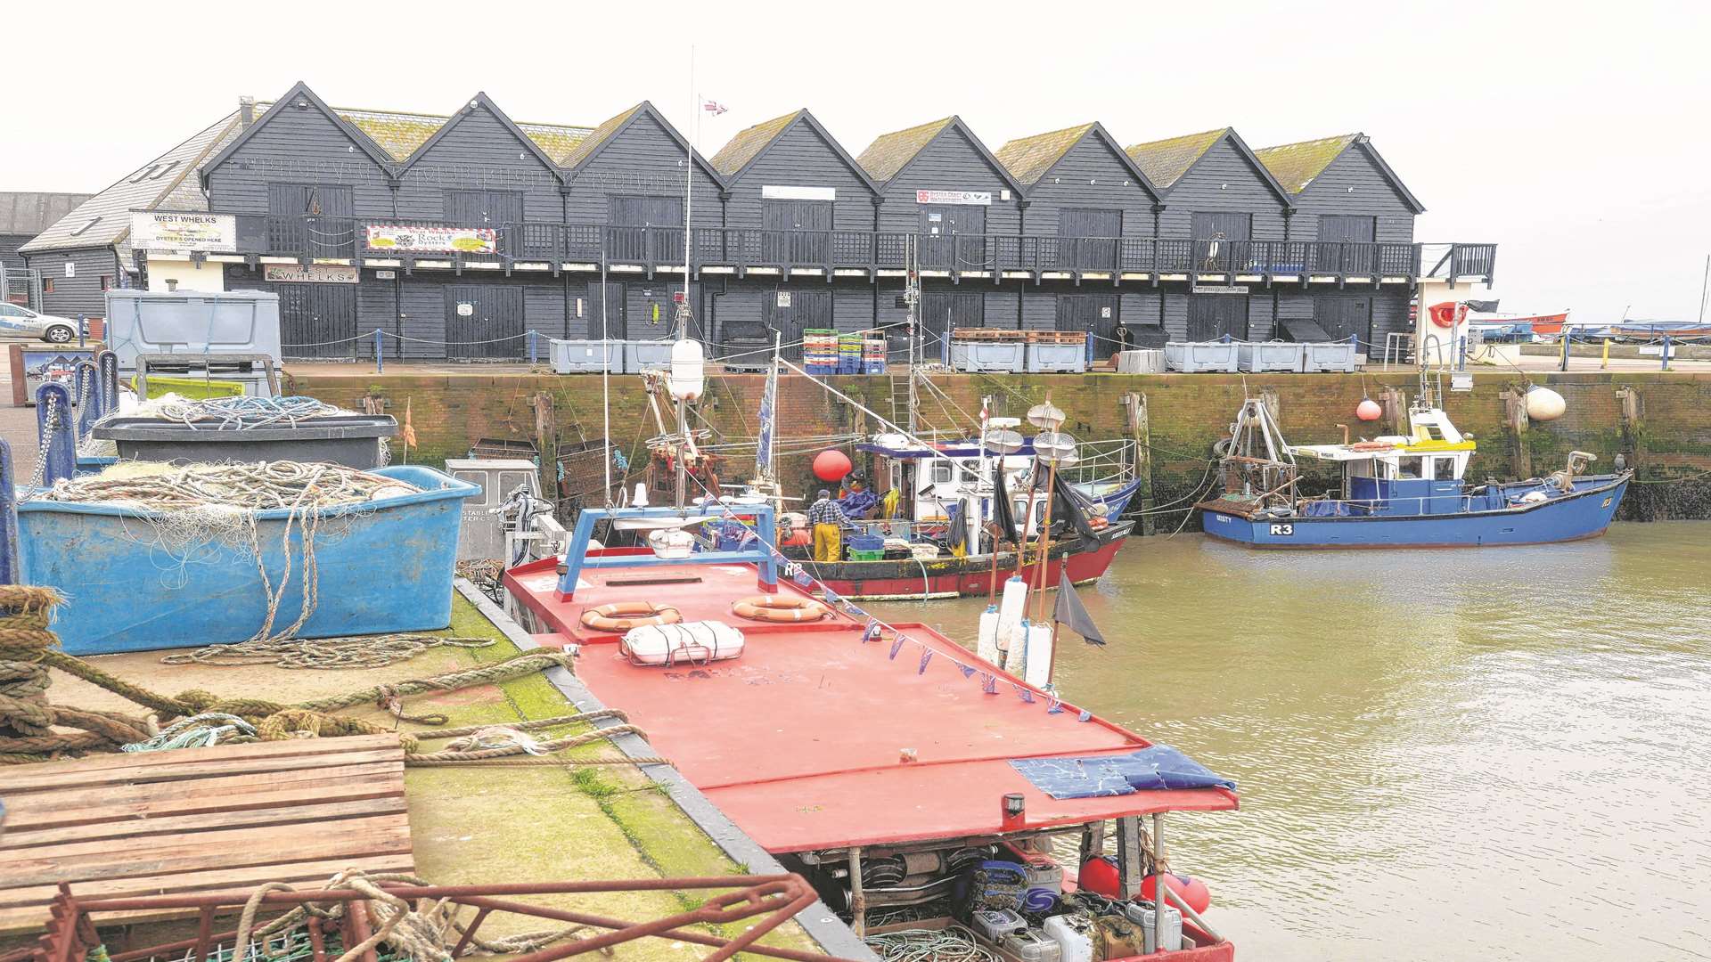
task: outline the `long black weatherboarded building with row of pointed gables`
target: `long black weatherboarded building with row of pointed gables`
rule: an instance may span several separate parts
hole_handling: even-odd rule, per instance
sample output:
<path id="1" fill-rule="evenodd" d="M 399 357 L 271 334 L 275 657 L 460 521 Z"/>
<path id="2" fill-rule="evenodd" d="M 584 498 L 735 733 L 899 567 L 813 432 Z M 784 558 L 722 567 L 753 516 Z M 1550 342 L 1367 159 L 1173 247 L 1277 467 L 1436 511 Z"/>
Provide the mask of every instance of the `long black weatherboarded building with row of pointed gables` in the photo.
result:
<path id="1" fill-rule="evenodd" d="M 332 108 L 303 84 L 222 125 L 154 209 L 233 219 L 231 250 L 190 257 L 229 289 L 279 291 L 293 358 L 366 358 L 375 330 L 411 358 L 520 358 L 530 330 L 667 337 L 686 178 L 690 303 L 719 356 L 809 327 L 888 329 L 900 347 L 910 248 L 929 337 L 1075 329 L 1098 353 L 1382 342 L 1424 276 L 1489 281 L 1494 260 L 1417 243 L 1422 207 L 1364 135 L 1124 149 L 1083 123 L 994 152 L 948 116 L 852 156 L 799 110 L 705 159 L 648 103 L 578 127 L 518 123 L 486 94 L 448 116 Z"/>

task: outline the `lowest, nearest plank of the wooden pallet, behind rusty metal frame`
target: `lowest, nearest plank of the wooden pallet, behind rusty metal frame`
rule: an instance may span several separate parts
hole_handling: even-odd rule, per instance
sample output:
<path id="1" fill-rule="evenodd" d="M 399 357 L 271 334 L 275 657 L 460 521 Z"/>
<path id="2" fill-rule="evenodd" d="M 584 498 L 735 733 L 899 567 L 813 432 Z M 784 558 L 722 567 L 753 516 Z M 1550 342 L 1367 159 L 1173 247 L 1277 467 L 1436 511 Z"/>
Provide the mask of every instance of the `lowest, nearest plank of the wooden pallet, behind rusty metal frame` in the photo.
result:
<path id="1" fill-rule="evenodd" d="M 163 895 L 163 894 L 245 894 L 257 885 L 267 882 L 284 882 L 296 888 L 318 888 L 329 878 L 344 871 L 347 868 L 356 868 L 368 873 L 414 873 L 416 863 L 409 856 L 371 856 L 356 859 L 335 859 L 335 861 L 313 861 L 313 863 L 286 863 L 286 864 L 267 864 L 255 866 L 238 871 L 226 873 L 183 873 L 183 875 L 166 875 L 151 876 L 139 880 L 111 880 L 96 883 L 80 883 L 74 892 L 84 899 L 130 899 L 145 895 Z M 0 935 L 15 935 L 27 931 L 39 931 L 48 921 L 48 906 L 58 887 L 48 885 L 34 890 L 15 890 L 31 892 L 33 899 L 24 904 L 0 907 Z M 147 911 L 147 912 L 103 912 L 98 923 L 106 924 L 135 924 L 145 921 L 164 921 L 178 917 L 192 917 L 195 912 L 186 911 Z M 236 909 L 231 912 L 236 916 Z"/>

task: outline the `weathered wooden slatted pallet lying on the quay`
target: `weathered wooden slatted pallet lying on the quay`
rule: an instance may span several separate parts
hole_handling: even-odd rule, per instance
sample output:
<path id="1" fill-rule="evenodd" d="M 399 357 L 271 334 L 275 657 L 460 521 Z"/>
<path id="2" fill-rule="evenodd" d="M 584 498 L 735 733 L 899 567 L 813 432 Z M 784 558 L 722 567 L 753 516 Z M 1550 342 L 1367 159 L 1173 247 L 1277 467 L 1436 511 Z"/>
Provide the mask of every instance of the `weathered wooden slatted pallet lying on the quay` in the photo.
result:
<path id="1" fill-rule="evenodd" d="M 0 769 L 0 935 L 56 885 L 121 899 L 414 871 L 397 738 L 313 738 Z M 156 916 L 103 916 L 151 921 Z"/>

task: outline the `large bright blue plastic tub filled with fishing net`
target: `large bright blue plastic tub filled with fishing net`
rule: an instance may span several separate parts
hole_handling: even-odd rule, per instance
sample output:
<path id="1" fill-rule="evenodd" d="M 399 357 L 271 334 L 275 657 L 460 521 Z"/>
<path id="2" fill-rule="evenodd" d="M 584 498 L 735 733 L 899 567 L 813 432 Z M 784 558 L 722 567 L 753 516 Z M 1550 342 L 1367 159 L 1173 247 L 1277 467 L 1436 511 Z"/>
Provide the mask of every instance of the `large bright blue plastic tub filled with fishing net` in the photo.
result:
<path id="1" fill-rule="evenodd" d="M 382 467 L 421 491 L 320 512 L 315 613 L 303 638 L 426 632 L 452 623 L 452 577 L 464 498 L 481 488 L 431 467 Z M 277 591 L 286 573 L 287 510 L 257 512 L 262 563 Z M 70 654 L 241 642 L 267 618 L 267 589 L 248 544 L 217 537 L 168 551 L 145 512 L 110 503 L 17 507 L 22 582 L 58 589 L 53 630 Z M 291 580 L 274 616 L 303 611 L 303 526 L 291 527 Z"/>

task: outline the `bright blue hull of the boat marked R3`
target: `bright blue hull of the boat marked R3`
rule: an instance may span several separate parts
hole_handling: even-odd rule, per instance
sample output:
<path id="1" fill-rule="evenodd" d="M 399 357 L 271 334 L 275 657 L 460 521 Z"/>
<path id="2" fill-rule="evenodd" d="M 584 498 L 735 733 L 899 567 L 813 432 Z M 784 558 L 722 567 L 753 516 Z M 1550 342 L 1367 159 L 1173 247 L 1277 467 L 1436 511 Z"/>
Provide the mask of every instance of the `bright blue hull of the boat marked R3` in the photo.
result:
<path id="1" fill-rule="evenodd" d="M 1610 527 L 1629 478 L 1513 508 L 1410 517 L 1264 517 L 1206 508 L 1203 527 L 1249 548 L 1480 548 L 1598 537 Z"/>

